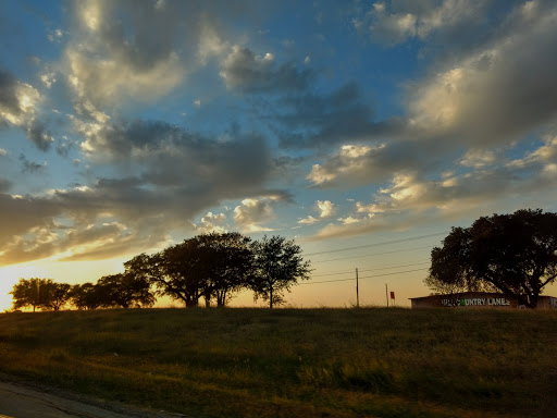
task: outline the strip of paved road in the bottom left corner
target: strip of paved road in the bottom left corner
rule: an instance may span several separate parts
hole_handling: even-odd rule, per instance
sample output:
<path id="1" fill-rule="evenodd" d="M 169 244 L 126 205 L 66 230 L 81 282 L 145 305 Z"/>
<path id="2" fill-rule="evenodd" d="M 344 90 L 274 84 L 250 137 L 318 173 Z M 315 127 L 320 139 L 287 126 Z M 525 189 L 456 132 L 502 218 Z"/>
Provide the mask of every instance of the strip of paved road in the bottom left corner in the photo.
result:
<path id="1" fill-rule="evenodd" d="M 21 384 L 0 381 L 0 418 L 164 418 L 176 416 L 181 415 L 148 413 L 124 415 L 99 406 L 42 393 Z"/>

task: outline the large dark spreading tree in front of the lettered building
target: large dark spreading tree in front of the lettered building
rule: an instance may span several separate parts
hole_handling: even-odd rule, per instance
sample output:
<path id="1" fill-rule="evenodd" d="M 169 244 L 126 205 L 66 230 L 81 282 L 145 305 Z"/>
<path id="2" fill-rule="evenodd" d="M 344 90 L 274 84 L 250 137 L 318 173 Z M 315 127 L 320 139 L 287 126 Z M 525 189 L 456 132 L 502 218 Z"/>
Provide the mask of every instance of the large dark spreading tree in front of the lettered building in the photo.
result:
<path id="1" fill-rule="evenodd" d="M 496 290 L 535 308 L 557 278 L 557 213 L 518 210 L 453 228 L 433 248 L 425 284 L 435 291 Z"/>

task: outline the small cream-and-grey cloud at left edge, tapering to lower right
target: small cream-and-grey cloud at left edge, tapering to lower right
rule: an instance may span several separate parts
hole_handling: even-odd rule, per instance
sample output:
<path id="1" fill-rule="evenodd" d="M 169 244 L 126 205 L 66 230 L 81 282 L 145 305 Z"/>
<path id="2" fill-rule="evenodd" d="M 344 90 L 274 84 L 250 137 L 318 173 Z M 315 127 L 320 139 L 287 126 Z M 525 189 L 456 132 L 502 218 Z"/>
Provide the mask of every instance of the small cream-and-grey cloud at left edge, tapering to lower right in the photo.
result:
<path id="1" fill-rule="evenodd" d="M 23 130 L 37 148 L 47 151 L 54 138 L 38 120 L 39 91 L 0 67 L 0 126 L 13 125 Z"/>

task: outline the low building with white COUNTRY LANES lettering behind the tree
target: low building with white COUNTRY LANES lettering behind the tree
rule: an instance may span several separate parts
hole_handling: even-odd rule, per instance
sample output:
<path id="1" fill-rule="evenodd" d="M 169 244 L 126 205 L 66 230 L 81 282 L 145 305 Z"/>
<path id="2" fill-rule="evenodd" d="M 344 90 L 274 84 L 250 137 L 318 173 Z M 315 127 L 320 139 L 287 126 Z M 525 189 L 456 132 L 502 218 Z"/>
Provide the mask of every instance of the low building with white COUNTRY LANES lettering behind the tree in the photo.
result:
<path id="1" fill-rule="evenodd" d="M 462 292 L 449 295 L 411 297 L 414 308 L 519 308 L 516 299 L 502 293 Z M 557 297 L 540 296 L 539 309 L 557 309 Z"/>

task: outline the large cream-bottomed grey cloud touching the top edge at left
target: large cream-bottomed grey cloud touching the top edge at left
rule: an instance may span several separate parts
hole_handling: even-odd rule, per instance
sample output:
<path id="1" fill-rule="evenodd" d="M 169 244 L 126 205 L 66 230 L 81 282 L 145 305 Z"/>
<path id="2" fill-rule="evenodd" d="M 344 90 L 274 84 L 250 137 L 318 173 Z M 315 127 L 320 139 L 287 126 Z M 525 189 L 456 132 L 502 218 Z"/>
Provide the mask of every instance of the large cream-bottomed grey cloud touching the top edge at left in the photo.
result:
<path id="1" fill-rule="evenodd" d="M 89 102 L 89 109 L 111 109 L 126 100 L 159 100 L 224 52 L 220 12 L 190 2 L 161 4 L 71 3 L 72 38 L 62 71 L 77 107 Z"/>

